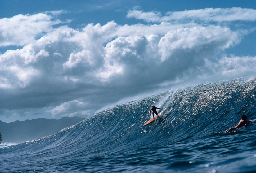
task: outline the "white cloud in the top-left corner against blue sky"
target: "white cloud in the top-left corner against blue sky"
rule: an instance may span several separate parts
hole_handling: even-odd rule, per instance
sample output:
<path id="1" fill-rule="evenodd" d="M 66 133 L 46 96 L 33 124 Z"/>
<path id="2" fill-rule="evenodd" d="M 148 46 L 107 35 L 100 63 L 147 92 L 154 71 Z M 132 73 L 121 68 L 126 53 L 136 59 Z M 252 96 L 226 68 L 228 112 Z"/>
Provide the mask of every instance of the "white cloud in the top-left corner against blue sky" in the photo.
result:
<path id="1" fill-rule="evenodd" d="M 44 13 L 0 19 L 0 46 L 24 46 L 44 32 L 51 32 L 52 26 L 58 23 L 61 21 L 52 21 L 52 16 Z"/>

